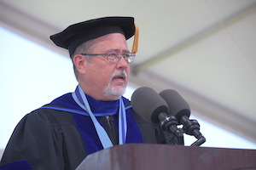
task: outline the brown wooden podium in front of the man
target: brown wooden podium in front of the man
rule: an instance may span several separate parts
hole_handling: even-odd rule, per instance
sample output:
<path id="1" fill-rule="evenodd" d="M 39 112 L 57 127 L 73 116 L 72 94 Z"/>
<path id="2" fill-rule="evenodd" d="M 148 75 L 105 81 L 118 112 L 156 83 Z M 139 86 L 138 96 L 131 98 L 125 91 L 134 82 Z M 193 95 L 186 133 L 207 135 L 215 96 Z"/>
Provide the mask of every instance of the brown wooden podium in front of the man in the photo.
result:
<path id="1" fill-rule="evenodd" d="M 123 144 L 87 156 L 77 170 L 256 170 L 256 150 Z"/>

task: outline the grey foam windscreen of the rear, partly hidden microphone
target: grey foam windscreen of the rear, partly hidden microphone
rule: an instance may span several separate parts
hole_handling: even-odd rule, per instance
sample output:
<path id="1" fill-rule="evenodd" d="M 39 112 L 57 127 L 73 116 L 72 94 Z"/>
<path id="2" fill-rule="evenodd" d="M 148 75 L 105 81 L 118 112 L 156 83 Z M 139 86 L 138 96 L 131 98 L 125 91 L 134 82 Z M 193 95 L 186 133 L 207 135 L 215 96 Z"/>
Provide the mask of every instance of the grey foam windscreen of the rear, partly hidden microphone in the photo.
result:
<path id="1" fill-rule="evenodd" d="M 172 116 L 176 116 L 178 122 L 180 122 L 182 116 L 190 116 L 189 104 L 177 91 L 166 89 L 160 92 L 160 96 L 166 100 L 169 107 L 168 113 Z"/>

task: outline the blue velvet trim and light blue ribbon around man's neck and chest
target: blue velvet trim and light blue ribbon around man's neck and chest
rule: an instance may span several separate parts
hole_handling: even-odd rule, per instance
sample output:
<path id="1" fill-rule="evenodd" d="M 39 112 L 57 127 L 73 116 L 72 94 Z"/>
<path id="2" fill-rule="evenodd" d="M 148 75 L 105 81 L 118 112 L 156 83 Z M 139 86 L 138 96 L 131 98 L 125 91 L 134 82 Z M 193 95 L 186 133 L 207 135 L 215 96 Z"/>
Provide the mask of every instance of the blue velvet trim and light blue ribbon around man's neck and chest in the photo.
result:
<path id="1" fill-rule="evenodd" d="M 74 95 L 77 97 L 74 97 Z M 122 101 L 124 105 L 129 103 L 129 99 L 125 99 L 121 97 L 119 100 L 114 101 L 101 101 L 91 98 L 89 95 L 85 94 L 85 97 L 90 105 L 90 110 L 94 114 L 96 121 L 102 126 L 101 116 L 113 116 L 115 126 L 118 128 L 119 133 L 119 144 L 128 144 L 128 143 L 143 143 L 142 134 L 137 127 L 137 123 L 133 119 L 131 106 L 123 107 L 125 114 L 123 113 L 122 116 L 125 116 L 125 121 L 122 117 L 120 117 L 120 102 Z M 76 100 L 76 101 L 75 101 Z M 84 101 L 82 96 L 79 93 L 79 87 L 76 88 L 73 94 L 64 94 L 61 97 L 53 100 L 48 105 L 44 105 L 41 108 L 48 108 L 54 109 L 57 111 L 67 111 L 70 112 L 73 116 L 73 120 L 76 123 L 76 126 L 79 129 L 79 133 L 81 134 L 84 147 L 87 154 L 94 153 L 98 150 L 102 150 L 112 146 L 112 143 L 109 144 L 107 139 L 106 144 L 106 137 L 99 137 L 99 134 L 96 130 L 95 123 L 92 121 L 90 117 L 89 111 L 84 110 L 82 105 Z M 40 108 L 40 109 L 41 109 Z M 121 123 L 120 123 L 121 121 Z M 121 125 L 122 123 L 126 124 Z M 102 128 L 102 127 L 101 127 Z M 123 131 L 123 132 L 119 132 Z M 106 133 L 106 132 L 105 132 Z M 122 136 L 120 136 L 122 135 Z M 102 139 L 101 139 L 102 138 Z M 103 141 L 101 141 L 103 140 Z M 105 145 L 104 145 L 105 142 Z M 111 142 L 111 141 L 110 141 Z"/>

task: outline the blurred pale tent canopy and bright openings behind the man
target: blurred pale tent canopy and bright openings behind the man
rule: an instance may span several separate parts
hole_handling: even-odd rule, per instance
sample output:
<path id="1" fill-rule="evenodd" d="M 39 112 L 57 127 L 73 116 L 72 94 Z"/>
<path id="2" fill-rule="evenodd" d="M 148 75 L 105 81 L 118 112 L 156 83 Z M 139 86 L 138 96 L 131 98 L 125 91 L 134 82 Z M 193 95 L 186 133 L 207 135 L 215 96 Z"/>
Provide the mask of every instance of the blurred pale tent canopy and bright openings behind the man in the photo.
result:
<path id="1" fill-rule="evenodd" d="M 117 15 L 140 27 L 125 97 L 142 86 L 175 89 L 201 125 L 202 146 L 256 149 L 255 0 L 1 0 L 1 152 L 26 113 L 77 86 L 67 51 L 49 36 Z M 185 135 L 186 145 L 194 141 Z"/>

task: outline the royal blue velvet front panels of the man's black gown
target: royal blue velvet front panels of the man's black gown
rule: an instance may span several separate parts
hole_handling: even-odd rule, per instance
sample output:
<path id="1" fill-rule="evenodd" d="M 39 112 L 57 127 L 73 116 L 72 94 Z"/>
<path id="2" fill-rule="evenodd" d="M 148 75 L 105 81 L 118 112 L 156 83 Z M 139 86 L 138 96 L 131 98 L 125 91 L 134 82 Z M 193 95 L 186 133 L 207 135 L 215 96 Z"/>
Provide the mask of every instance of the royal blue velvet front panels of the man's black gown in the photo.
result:
<path id="1" fill-rule="evenodd" d="M 127 105 L 129 100 L 125 98 L 123 98 L 123 100 L 125 105 Z M 74 122 L 79 129 L 79 133 L 84 140 L 84 147 L 88 155 L 103 149 L 90 116 L 87 116 L 86 112 L 76 104 L 71 93 L 64 94 L 61 97 L 53 100 L 49 105 L 44 105 L 39 109 L 42 108 L 54 109 L 57 111 L 67 111 L 72 114 Z M 125 111 L 127 120 L 127 133 L 125 143 L 143 143 L 142 134 L 132 116 L 131 106 L 126 107 Z M 113 118 L 115 126 L 119 127 L 118 114 L 113 115 Z M 99 117 L 96 117 L 96 119 L 98 122 L 102 123 Z"/>

